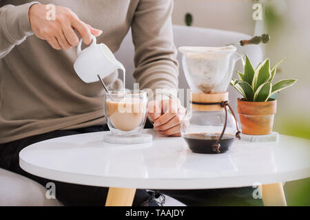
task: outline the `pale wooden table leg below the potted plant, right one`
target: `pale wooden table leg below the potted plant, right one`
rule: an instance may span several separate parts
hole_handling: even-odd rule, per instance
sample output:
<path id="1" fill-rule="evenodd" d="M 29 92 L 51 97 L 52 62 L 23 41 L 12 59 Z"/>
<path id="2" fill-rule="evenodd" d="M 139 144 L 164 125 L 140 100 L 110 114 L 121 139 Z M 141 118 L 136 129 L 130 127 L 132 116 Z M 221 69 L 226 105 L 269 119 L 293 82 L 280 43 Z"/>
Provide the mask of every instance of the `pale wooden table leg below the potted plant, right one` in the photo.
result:
<path id="1" fill-rule="evenodd" d="M 281 182 L 260 186 L 260 194 L 262 195 L 264 206 L 287 206 Z"/>

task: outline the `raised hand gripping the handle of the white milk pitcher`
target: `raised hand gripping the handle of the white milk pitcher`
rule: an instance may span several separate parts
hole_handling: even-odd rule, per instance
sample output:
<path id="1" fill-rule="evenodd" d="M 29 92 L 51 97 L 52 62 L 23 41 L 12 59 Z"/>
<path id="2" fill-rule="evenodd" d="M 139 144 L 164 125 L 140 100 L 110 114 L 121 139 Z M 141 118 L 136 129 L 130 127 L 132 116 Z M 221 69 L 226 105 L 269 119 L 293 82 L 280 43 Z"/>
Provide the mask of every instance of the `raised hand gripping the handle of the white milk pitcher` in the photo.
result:
<path id="1" fill-rule="evenodd" d="M 34 35 L 48 41 L 56 49 L 69 50 L 79 43 L 74 30 L 79 32 L 83 42 L 92 43 L 92 35 L 99 36 L 102 31 L 83 23 L 72 10 L 63 6 L 55 6 L 55 19 L 48 19 L 46 5 L 34 4 L 29 9 L 29 21 Z"/>

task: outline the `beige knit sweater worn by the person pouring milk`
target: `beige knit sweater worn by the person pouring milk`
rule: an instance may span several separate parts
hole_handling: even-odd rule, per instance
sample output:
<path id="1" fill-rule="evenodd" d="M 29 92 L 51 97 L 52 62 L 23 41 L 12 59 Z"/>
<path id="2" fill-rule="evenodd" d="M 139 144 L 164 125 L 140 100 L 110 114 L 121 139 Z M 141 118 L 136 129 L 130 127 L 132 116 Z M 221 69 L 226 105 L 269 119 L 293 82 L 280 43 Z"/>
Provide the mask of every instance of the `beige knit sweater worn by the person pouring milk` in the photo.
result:
<path id="1" fill-rule="evenodd" d="M 76 47 L 54 50 L 33 35 L 28 10 L 34 2 L 0 0 L 0 143 L 58 129 L 105 123 L 100 83 L 83 83 L 73 63 Z M 50 0 L 103 30 L 97 38 L 116 52 L 132 28 L 134 77 L 144 88 L 177 88 L 172 0 Z M 121 88 L 114 73 L 104 79 Z"/>

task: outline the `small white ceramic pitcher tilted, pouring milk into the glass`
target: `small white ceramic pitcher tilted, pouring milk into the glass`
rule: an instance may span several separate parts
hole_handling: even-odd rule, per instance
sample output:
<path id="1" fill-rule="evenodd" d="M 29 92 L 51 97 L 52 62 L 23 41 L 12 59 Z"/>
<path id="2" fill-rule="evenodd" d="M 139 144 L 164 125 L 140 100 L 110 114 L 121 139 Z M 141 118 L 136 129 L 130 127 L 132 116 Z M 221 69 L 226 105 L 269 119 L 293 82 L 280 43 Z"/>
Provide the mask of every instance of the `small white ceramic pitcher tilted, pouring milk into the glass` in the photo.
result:
<path id="1" fill-rule="evenodd" d="M 76 74 L 85 83 L 94 83 L 99 81 L 97 75 L 105 78 L 116 71 L 122 69 L 125 72 L 123 65 L 116 60 L 114 54 L 107 45 L 101 43 L 96 44 L 96 37 L 92 35 L 92 44 L 81 50 L 83 39 L 80 40 L 77 47 L 78 58 L 74 63 Z"/>

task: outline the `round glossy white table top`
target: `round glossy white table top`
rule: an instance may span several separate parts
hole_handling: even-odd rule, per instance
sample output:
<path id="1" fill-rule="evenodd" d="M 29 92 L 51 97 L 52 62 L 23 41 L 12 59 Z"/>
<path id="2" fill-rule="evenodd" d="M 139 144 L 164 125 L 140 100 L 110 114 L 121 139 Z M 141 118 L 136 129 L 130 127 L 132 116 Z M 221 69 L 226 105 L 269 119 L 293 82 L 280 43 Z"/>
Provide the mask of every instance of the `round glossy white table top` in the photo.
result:
<path id="1" fill-rule="evenodd" d="M 45 140 L 19 153 L 23 170 L 89 186 L 149 189 L 230 188 L 310 176 L 310 140 L 280 135 L 280 142 L 236 140 L 230 151 L 192 153 L 182 137 L 156 136 L 149 144 L 103 142 L 110 131 Z"/>

